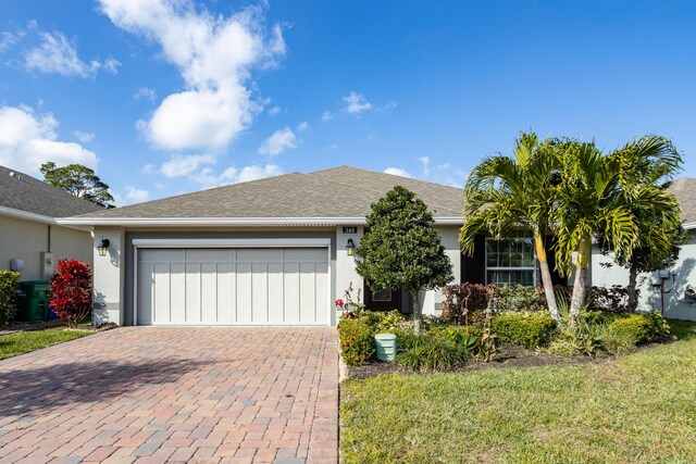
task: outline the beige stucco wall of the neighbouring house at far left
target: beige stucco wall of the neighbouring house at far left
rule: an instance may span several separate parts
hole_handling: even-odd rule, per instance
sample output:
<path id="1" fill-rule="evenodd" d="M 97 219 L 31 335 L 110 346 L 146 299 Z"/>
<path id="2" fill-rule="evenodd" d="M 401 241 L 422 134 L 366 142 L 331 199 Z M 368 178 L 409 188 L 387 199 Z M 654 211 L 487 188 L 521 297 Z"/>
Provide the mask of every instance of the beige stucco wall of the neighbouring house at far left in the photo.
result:
<path id="1" fill-rule="evenodd" d="M 40 253 L 48 251 L 53 254 L 51 274 L 55 263 L 64 259 L 79 260 L 91 266 L 91 234 L 86 230 L 0 216 L 0 269 L 10 269 L 10 260 L 17 258 L 24 261 L 21 279 L 39 280 Z"/>

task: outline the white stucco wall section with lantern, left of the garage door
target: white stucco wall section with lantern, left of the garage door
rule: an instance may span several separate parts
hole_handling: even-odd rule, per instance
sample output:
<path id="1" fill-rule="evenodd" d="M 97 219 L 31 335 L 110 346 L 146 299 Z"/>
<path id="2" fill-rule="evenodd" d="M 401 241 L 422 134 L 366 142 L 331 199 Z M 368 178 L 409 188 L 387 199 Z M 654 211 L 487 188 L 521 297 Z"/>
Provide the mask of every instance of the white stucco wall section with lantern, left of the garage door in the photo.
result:
<path id="1" fill-rule="evenodd" d="M 102 239 L 109 239 L 105 256 L 100 256 L 97 247 Z M 97 227 L 94 231 L 95 269 L 95 322 L 102 324 L 113 322 L 123 325 L 125 315 L 124 271 L 122 266 L 125 233 L 121 228 Z"/>

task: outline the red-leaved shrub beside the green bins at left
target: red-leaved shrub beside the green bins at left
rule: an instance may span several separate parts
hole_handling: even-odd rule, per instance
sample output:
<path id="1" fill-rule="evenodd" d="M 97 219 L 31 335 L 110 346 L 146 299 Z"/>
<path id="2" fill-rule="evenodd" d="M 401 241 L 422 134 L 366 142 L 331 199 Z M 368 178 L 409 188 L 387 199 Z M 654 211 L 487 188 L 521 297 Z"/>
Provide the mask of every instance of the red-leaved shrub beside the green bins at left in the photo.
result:
<path id="1" fill-rule="evenodd" d="M 55 271 L 50 304 L 58 317 L 77 327 L 91 311 L 91 271 L 77 260 L 61 260 Z"/>

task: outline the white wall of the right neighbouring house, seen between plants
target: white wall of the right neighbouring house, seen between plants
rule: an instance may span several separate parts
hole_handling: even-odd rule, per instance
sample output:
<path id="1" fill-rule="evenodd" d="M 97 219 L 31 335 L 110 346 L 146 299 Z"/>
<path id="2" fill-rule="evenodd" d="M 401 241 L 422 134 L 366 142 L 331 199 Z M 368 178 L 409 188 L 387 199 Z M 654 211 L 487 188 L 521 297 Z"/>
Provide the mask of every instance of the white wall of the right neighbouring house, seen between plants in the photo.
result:
<path id="1" fill-rule="evenodd" d="M 612 285 L 625 286 L 629 284 L 627 269 L 616 264 L 610 264 L 612 256 L 602 255 L 598 249 L 593 248 L 592 254 L 592 285 L 598 287 L 611 287 Z M 684 290 L 687 285 L 696 288 L 696 231 L 689 233 L 689 240 L 682 246 L 680 258 L 670 268 L 675 276 L 664 281 L 664 316 L 678 319 L 696 321 L 696 304 L 684 302 Z M 660 311 L 660 288 L 652 286 L 659 283 L 657 273 L 639 274 L 637 287 L 641 290 L 638 299 L 639 311 Z"/>

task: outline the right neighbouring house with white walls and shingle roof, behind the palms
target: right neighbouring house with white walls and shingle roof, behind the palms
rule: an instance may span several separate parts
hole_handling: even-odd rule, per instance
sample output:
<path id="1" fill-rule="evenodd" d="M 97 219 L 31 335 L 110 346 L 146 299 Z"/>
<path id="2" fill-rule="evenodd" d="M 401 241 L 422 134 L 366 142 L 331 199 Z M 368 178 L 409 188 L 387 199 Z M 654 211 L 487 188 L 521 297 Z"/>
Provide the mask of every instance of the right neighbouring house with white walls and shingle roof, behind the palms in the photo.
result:
<path id="1" fill-rule="evenodd" d="M 684 294 L 687 286 L 696 288 L 696 179 L 679 178 L 669 190 L 682 205 L 682 222 L 688 240 L 682 246 L 679 260 L 670 269 L 638 275 L 638 310 L 660 311 L 664 304 L 666 317 L 696 321 L 696 301 Z M 591 280 L 595 286 L 625 286 L 629 284 L 629 272 L 612 264 L 612 255 L 604 255 L 594 247 Z"/>

